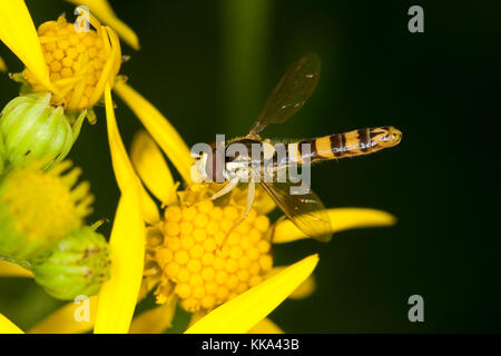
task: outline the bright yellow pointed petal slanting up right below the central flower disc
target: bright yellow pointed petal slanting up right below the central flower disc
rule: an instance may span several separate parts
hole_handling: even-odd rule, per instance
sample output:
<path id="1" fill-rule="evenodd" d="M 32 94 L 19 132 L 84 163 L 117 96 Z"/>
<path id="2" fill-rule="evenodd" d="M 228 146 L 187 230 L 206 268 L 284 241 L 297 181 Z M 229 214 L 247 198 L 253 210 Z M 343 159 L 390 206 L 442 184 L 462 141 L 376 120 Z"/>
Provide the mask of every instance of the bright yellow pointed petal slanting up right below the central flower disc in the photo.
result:
<path id="1" fill-rule="evenodd" d="M 188 334 L 243 334 L 273 312 L 315 269 L 312 255 L 240 294 L 195 323 Z"/>

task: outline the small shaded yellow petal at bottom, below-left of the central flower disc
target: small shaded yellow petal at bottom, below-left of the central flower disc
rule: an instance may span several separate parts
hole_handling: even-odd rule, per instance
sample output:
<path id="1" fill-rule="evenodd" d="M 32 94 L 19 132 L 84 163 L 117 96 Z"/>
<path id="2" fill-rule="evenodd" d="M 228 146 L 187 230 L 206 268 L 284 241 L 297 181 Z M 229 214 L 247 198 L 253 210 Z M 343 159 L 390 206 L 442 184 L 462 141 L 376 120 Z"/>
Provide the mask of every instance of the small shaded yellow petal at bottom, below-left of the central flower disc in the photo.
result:
<path id="1" fill-rule="evenodd" d="M 139 314 L 134 318 L 129 334 L 161 334 L 171 326 L 176 306 L 176 298 L 173 298 L 170 303 Z"/>

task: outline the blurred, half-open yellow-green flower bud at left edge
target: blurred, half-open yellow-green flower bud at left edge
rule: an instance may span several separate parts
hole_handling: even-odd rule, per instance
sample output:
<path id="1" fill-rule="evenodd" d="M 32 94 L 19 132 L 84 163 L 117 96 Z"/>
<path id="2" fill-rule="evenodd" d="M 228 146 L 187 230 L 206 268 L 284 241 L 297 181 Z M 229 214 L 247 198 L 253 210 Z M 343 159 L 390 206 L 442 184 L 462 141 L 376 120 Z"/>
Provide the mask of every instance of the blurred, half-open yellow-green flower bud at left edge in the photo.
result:
<path id="1" fill-rule="evenodd" d="M 0 257 L 29 259 L 84 225 L 91 212 L 89 184 L 80 168 L 63 161 L 47 171 L 32 162 L 0 181 Z"/>

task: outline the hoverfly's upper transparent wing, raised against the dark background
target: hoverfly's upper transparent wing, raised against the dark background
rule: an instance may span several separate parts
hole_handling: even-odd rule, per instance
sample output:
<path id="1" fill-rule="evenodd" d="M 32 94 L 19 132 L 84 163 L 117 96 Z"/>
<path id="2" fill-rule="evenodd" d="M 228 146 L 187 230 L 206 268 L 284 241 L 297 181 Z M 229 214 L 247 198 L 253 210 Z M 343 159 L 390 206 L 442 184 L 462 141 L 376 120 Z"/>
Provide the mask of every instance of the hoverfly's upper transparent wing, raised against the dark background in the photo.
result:
<path id="1" fill-rule="evenodd" d="M 315 91 L 321 62 L 316 55 L 306 55 L 297 60 L 282 77 L 250 129 L 259 134 L 269 123 L 285 122 L 296 113 Z"/>

